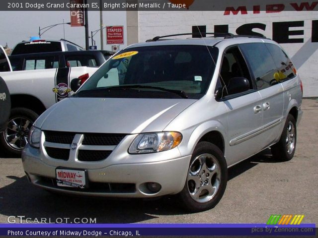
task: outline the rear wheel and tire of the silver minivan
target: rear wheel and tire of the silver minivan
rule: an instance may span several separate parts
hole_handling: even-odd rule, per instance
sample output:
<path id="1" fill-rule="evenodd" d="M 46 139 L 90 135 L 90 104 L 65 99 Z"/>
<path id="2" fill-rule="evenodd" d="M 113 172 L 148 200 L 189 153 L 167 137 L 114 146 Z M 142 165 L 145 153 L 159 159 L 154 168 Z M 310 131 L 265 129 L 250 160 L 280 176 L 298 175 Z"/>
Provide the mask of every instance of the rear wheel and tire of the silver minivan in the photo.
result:
<path id="1" fill-rule="evenodd" d="M 273 158 L 281 161 L 290 161 L 295 154 L 296 140 L 296 120 L 291 114 L 288 114 L 279 141 L 271 146 Z"/>

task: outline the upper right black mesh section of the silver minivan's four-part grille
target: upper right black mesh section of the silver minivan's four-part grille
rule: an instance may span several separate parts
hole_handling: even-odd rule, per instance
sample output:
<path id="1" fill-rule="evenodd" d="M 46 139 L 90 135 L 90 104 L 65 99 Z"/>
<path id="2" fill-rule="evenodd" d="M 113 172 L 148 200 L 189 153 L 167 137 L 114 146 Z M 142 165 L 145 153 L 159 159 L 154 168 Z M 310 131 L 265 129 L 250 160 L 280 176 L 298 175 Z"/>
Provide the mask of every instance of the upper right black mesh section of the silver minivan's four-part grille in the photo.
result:
<path id="1" fill-rule="evenodd" d="M 126 134 L 85 133 L 83 145 L 118 145 Z"/>

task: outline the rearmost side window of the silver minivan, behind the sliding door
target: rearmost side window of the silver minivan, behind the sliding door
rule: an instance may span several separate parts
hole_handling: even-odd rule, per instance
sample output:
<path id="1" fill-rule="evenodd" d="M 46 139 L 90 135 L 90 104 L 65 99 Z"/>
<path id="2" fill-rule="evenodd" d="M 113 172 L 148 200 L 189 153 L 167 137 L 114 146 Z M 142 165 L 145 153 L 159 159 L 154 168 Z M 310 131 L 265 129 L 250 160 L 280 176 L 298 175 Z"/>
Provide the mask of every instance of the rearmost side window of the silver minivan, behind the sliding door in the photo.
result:
<path id="1" fill-rule="evenodd" d="M 278 81 L 286 81 L 296 76 L 296 69 L 292 61 L 288 58 L 286 53 L 274 44 L 265 44 L 278 69 L 278 75 L 275 79 Z"/>

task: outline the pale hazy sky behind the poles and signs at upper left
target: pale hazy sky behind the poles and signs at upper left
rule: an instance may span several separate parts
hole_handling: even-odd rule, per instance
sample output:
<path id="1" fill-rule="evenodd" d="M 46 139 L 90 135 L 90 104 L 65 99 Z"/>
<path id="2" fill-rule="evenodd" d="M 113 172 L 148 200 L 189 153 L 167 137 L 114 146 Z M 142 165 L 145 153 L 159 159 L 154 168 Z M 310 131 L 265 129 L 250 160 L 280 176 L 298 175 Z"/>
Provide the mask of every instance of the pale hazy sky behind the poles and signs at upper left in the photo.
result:
<path id="1" fill-rule="evenodd" d="M 69 11 L 0 11 L 0 45 L 8 45 L 13 48 L 17 43 L 29 40 L 32 36 L 38 36 L 39 26 L 44 28 L 49 25 L 70 22 Z M 125 11 L 103 11 L 103 26 L 122 25 L 126 28 Z M 91 31 L 100 28 L 99 11 L 88 11 L 89 36 Z M 71 27 L 68 24 L 58 25 L 47 32 L 41 38 L 47 40 L 59 40 L 64 38 L 72 41 L 82 47 L 85 47 L 85 29 L 84 27 Z M 111 50 L 110 45 L 106 45 L 106 30 L 103 29 L 104 50 Z M 41 33 L 44 30 L 41 31 Z M 127 34 L 124 32 L 124 43 L 127 43 Z M 97 49 L 100 49 L 100 32 L 94 35 Z M 91 40 L 89 39 L 89 45 Z M 120 46 L 123 49 L 126 46 Z"/>

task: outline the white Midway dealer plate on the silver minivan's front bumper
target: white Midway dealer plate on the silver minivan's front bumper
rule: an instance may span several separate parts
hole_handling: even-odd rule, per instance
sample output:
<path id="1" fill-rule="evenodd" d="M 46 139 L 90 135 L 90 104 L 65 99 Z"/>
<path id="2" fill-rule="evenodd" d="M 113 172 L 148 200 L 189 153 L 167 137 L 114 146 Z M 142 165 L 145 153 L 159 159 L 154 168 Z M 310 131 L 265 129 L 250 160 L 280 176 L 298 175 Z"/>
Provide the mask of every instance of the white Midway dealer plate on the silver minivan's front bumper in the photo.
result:
<path id="1" fill-rule="evenodd" d="M 84 170 L 56 169 L 58 186 L 86 188 L 86 172 Z"/>

